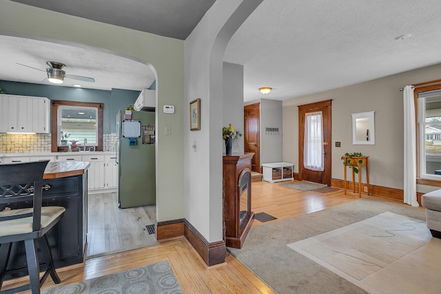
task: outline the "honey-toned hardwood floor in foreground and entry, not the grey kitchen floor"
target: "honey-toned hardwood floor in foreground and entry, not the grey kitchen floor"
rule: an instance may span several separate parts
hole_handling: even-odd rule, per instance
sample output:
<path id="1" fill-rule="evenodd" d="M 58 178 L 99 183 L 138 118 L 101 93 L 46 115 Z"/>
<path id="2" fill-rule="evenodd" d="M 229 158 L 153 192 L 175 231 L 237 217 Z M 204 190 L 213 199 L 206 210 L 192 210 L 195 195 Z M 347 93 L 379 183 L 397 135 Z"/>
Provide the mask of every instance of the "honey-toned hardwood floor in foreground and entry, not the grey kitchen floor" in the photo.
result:
<path id="1" fill-rule="evenodd" d="M 388 198 L 362 197 L 402 203 Z M 344 195 L 342 189 L 331 193 L 318 193 L 296 191 L 282 187 L 280 183 L 252 182 L 253 211 L 263 211 L 278 218 L 274 221 L 293 218 L 358 199 L 358 194 L 348 191 L 348 195 Z M 261 223 L 254 220 L 253 225 L 267 223 L 269 222 Z M 154 246 L 92 258 L 86 260 L 84 266 L 59 269 L 58 273 L 61 277 L 61 284 L 70 284 L 162 260 L 170 262 L 184 293 L 274 293 L 269 286 L 232 255 L 227 256 L 224 264 L 207 268 L 185 238 L 176 238 Z M 28 281 L 23 282 L 23 278 L 7 281 L 3 287 L 6 289 L 26 282 Z M 54 285 L 48 278 L 42 288 L 48 289 L 54 286 L 57 285 Z"/>

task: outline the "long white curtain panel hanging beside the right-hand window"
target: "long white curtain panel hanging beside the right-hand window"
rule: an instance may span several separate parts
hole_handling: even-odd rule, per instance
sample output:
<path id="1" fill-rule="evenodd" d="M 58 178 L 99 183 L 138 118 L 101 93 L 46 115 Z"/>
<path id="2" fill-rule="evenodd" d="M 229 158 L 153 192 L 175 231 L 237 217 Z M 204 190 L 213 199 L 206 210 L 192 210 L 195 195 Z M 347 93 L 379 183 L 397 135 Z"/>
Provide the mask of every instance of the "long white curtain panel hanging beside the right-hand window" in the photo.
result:
<path id="1" fill-rule="evenodd" d="M 404 87 L 404 203 L 418 207 L 416 200 L 416 120 L 413 86 Z"/>

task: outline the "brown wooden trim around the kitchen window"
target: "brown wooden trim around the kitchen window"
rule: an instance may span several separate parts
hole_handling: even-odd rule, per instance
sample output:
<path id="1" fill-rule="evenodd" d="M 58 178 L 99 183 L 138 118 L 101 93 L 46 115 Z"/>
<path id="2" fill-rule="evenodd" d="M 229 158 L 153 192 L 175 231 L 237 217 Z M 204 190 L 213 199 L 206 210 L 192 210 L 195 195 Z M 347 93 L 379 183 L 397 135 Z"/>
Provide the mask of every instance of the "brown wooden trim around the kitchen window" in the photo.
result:
<path id="1" fill-rule="evenodd" d="M 103 103 L 92 103 L 92 102 L 77 102 L 77 101 L 63 101 L 63 100 L 52 100 L 51 103 L 51 151 L 67 151 L 65 147 L 58 146 L 58 107 L 61 105 L 68 106 L 85 106 L 85 107 L 96 107 L 98 109 L 98 117 L 96 121 L 98 122 L 98 138 L 97 138 L 97 149 L 96 151 L 103 151 Z"/>

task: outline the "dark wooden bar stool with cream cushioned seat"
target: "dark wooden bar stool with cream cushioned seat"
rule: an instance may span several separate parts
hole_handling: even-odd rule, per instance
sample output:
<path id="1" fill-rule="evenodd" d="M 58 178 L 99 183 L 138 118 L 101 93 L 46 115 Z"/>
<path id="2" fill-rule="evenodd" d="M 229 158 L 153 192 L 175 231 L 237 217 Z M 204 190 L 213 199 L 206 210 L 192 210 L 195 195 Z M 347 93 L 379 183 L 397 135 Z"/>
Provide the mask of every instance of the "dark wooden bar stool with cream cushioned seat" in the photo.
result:
<path id="1" fill-rule="evenodd" d="M 64 207 L 41 207 L 43 173 L 49 160 L 0 165 L 0 290 L 8 268 L 12 242 L 25 243 L 26 260 L 30 284 L 0 291 L 17 293 L 31 290 L 40 293 L 40 287 L 48 275 L 56 284 L 60 278 L 54 268 L 46 233 L 59 222 Z M 32 208 L 18 208 L 19 202 L 31 202 Z M 48 269 L 39 277 L 40 264 L 37 242 L 41 250 L 41 261 Z"/>

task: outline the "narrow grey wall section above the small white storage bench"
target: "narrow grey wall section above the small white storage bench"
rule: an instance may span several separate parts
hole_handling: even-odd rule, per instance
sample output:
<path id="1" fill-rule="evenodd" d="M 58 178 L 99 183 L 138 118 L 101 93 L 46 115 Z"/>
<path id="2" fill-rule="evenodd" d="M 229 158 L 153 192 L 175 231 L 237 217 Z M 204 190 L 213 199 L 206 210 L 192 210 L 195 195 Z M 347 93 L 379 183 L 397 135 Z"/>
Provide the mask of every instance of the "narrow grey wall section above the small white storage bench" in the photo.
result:
<path id="1" fill-rule="evenodd" d="M 266 132 L 278 127 L 278 133 Z M 260 99 L 260 164 L 283 161 L 283 103 Z"/>

